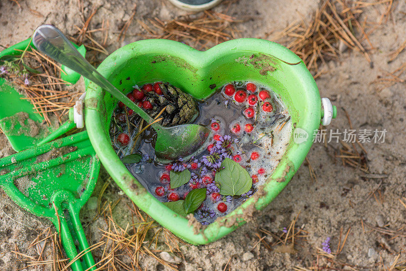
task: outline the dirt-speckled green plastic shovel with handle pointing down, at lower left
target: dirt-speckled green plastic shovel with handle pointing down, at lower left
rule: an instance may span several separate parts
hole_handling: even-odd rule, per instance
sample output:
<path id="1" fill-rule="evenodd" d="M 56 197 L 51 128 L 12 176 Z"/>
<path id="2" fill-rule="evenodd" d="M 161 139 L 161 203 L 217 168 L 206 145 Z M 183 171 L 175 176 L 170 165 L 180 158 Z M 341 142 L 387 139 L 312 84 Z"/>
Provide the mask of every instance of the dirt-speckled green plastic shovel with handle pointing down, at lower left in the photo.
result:
<path id="1" fill-rule="evenodd" d="M 86 131 L 0 159 L 0 186 L 21 208 L 55 225 L 75 271 L 96 268 L 79 211 L 99 169 Z"/>

